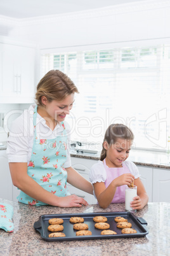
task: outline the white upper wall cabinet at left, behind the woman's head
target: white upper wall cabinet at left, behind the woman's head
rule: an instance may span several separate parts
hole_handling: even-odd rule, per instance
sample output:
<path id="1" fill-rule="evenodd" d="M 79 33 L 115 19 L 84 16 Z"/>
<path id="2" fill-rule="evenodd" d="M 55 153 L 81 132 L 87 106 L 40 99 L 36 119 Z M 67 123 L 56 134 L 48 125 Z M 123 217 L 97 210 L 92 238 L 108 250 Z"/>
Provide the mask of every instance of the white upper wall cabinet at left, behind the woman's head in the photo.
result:
<path id="1" fill-rule="evenodd" d="M 0 103 L 32 103 L 36 47 L 0 37 Z"/>

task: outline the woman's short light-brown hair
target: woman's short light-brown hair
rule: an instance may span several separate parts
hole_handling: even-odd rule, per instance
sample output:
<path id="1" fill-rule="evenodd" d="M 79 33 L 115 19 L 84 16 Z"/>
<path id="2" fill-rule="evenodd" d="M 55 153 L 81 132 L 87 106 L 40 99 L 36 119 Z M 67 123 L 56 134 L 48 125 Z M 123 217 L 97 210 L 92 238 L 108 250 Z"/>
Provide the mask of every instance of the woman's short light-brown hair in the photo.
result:
<path id="1" fill-rule="evenodd" d="M 62 101 L 74 92 L 79 93 L 74 82 L 67 75 L 60 70 L 51 70 L 42 77 L 37 85 L 37 105 L 44 106 L 41 102 L 42 96 L 46 96 L 49 102 L 53 100 Z"/>

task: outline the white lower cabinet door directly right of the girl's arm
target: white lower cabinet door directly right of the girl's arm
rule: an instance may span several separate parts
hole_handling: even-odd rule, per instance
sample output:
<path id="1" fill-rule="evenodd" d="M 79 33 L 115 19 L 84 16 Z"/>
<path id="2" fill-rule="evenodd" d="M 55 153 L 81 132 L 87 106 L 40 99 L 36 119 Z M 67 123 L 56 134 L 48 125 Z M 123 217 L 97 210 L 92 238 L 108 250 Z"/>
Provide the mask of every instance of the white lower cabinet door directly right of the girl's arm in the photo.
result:
<path id="1" fill-rule="evenodd" d="M 152 202 L 152 168 L 151 167 L 143 167 L 138 166 L 140 172 L 140 179 L 143 183 L 145 190 L 148 194 L 148 201 Z"/>

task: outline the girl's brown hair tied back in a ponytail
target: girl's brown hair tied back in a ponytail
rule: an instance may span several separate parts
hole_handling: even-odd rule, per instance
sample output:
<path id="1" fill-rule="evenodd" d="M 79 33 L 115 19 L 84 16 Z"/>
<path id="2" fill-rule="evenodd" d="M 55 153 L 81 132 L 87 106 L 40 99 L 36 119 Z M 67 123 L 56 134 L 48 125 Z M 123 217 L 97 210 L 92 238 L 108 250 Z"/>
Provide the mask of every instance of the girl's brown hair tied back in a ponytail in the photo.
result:
<path id="1" fill-rule="evenodd" d="M 124 124 L 111 124 L 108 126 L 107 131 L 105 132 L 104 141 L 107 141 L 108 145 L 115 144 L 117 139 L 129 139 L 133 141 L 134 134 L 126 125 Z M 103 161 L 107 156 L 107 150 L 105 150 L 104 146 L 101 150 L 100 160 Z"/>

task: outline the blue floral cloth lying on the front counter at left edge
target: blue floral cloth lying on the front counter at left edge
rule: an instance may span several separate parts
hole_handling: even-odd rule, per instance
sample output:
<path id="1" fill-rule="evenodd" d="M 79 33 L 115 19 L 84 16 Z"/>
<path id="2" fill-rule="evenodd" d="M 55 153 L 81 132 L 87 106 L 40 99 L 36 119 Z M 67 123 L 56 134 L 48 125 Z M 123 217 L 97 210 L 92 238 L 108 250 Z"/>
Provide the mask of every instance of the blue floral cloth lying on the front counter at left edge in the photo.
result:
<path id="1" fill-rule="evenodd" d="M 6 232 L 13 232 L 13 206 L 0 202 L 0 229 Z"/>

